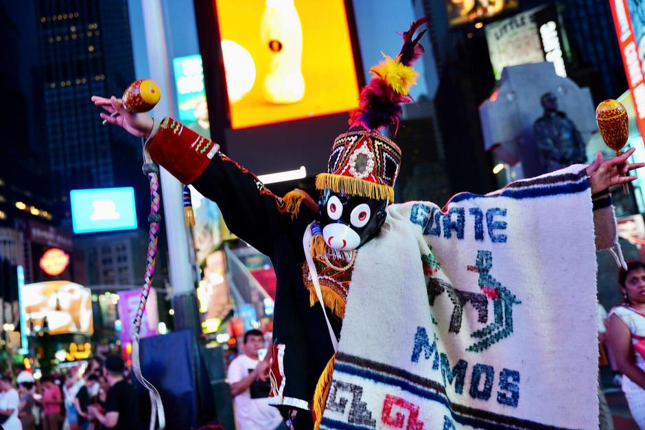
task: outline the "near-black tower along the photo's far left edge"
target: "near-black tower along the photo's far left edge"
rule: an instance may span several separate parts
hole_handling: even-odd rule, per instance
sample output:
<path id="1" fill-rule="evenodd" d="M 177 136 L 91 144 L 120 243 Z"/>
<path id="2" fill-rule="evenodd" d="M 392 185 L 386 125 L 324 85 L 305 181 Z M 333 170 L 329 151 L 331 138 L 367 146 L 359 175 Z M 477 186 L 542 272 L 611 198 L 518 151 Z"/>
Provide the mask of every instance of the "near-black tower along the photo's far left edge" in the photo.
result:
<path id="1" fill-rule="evenodd" d="M 0 4 L 0 226 L 18 219 L 55 222 L 47 182 L 34 5 Z"/>

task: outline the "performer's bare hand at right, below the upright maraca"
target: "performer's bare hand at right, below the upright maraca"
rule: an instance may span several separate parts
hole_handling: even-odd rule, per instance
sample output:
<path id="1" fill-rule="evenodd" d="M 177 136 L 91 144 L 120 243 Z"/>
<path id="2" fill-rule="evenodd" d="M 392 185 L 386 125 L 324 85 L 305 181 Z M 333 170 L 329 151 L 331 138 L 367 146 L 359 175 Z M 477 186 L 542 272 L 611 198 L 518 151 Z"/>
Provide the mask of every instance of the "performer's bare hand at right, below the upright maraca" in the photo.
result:
<path id="1" fill-rule="evenodd" d="M 634 169 L 645 167 L 645 163 L 627 163 L 627 158 L 631 156 L 635 148 L 607 160 L 602 160 L 600 151 L 596 154 L 594 161 L 587 166 L 587 176 L 589 176 L 589 185 L 591 193 L 598 193 L 612 185 L 625 184 L 636 179 L 636 176 L 626 176 L 627 173 Z"/>

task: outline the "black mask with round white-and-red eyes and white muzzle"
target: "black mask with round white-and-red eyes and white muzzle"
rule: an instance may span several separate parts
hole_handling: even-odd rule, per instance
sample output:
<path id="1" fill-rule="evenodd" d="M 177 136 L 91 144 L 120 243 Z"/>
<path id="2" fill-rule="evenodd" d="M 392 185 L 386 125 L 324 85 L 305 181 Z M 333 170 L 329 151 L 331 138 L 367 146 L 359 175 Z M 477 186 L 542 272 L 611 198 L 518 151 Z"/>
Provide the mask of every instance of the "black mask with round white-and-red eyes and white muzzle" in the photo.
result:
<path id="1" fill-rule="evenodd" d="M 377 235 L 385 222 L 387 200 L 334 193 L 320 195 L 320 226 L 327 246 L 351 251 Z"/>

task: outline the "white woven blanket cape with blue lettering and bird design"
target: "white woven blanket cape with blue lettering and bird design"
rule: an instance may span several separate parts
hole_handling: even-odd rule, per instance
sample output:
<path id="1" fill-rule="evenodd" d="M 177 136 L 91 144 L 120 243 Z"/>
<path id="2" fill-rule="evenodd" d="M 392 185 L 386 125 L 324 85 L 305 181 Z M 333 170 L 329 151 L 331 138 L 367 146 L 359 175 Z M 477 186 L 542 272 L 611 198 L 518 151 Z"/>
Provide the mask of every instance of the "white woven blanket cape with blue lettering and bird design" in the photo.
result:
<path id="1" fill-rule="evenodd" d="M 606 206 L 579 165 L 443 212 L 390 206 L 355 261 L 321 428 L 597 429 Z"/>

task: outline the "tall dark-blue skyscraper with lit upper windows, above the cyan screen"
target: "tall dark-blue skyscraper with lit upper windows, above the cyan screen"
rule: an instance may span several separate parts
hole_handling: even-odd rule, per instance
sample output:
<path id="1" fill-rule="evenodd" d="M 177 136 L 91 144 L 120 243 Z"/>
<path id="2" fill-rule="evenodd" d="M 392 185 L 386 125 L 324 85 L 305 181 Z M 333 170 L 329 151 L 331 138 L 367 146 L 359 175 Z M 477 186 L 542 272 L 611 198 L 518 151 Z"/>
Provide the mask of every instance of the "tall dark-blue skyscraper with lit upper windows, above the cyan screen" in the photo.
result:
<path id="1" fill-rule="evenodd" d="M 134 165 L 137 157 L 139 140 L 102 126 L 90 101 L 119 95 L 134 80 L 128 7 L 126 0 L 39 0 L 37 13 L 51 186 L 69 216 L 69 190 L 113 187 L 121 182 L 119 158 Z"/>

